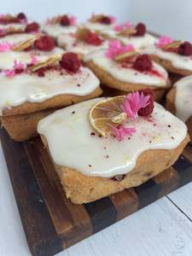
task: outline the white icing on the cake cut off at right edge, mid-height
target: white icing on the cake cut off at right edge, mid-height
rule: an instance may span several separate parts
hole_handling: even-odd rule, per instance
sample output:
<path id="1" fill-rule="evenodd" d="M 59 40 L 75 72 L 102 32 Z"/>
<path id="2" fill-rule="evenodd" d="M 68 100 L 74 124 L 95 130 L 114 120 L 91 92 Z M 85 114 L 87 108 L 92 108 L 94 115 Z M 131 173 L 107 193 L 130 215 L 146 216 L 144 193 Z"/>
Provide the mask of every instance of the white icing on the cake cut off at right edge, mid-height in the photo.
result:
<path id="1" fill-rule="evenodd" d="M 192 116 L 192 76 L 177 81 L 174 87 L 176 115 L 185 122 Z"/>

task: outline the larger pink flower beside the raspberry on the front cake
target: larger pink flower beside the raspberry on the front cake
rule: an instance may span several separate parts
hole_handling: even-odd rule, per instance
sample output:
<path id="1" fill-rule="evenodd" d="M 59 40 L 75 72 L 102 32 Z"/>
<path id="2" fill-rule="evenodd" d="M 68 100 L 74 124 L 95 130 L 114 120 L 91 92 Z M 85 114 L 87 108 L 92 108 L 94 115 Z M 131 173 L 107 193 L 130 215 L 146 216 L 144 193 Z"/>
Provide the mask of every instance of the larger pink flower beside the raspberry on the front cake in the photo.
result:
<path id="1" fill-rule="evenodd" d="M 144 96 L 143 92 L 139 94 L 138 91 L 129 93 L 124 105 L 121 107 L 128 117 L 137 119 L 138 111 L 140 108 L 146 108 L 148 106 L 150 96 Z"/>

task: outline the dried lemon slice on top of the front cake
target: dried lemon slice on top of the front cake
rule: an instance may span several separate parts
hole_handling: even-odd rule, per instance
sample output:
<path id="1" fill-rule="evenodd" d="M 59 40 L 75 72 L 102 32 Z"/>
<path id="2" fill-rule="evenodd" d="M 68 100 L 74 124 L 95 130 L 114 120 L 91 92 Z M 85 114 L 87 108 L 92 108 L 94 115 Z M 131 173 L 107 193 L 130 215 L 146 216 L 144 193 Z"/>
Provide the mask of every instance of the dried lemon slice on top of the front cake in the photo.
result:
<path id="1" fill-rule="evenodd" d="M 90 125 L 102 137 L 112 130 L 112 125 L 118 126 L 125 123 L 127 115 L 121 108 L 124 102 L 125 96 L 116 96 L 98 102 L 90 109 Z"/>

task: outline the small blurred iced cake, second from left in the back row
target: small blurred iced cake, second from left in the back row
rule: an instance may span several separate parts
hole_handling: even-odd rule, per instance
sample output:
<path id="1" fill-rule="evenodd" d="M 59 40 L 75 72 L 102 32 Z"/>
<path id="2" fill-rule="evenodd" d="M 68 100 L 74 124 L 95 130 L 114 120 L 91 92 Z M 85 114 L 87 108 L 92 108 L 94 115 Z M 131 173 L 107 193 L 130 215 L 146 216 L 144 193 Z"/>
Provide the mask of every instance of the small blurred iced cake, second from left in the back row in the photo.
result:
<path id="1" fill-rule="evenodd" d="M 74 33 L 77 30 L 76 17 L 73 15 L 58 15 L 47 19 L 41 26 L 43 32 L 57 39 L 63 33 Z"/>

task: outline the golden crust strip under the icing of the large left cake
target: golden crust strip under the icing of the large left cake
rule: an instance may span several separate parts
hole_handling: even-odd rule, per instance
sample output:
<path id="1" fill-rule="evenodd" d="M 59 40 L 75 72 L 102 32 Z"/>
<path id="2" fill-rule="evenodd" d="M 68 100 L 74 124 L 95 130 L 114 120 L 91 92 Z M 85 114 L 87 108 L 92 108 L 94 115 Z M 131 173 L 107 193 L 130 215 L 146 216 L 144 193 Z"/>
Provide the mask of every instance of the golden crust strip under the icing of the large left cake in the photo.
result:
<path id="1" fill-rule="evenodd" d="M 17 107 L 3 109 L 3 116 L 34 113 L 49 108 L 66 107 L 77 102 L 84 102 L 86 100 L 95 98 L 101 94 L 102 89 L 97 87 L 96 90 L 87 96 L 59 95 L 54 96 L 44 102 L 25 102 Z"/>

